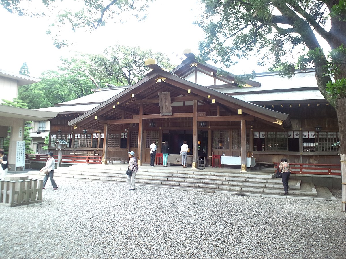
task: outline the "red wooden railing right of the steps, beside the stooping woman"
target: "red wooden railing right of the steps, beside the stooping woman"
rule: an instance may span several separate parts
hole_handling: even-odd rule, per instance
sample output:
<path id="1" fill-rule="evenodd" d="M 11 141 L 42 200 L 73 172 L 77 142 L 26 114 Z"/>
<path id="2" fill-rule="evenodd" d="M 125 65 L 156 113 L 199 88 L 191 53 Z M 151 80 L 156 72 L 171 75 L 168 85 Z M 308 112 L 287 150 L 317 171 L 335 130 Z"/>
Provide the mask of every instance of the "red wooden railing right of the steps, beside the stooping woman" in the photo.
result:
<path id="1" fill-rule="evenodd" d="M 280 163 L 273 164 L 277 168 Z M 293 174 L 341 175 L 341 165 L 338 164 L 289 164 Z"/>

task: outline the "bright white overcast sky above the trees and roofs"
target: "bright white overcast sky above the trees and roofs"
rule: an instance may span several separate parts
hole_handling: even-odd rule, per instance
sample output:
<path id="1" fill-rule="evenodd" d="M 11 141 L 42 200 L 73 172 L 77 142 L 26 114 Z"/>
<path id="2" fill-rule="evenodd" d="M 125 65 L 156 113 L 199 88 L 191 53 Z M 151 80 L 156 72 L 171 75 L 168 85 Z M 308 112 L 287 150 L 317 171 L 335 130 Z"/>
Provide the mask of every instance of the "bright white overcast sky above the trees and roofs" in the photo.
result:
<path id="1" fill-rule="evenodd" d="M 52 23 L 47 17 L 18 17 L 1 8 L 0 69 L 19 73 L 20 67 L 26 62 L 30 76 L 39 77 L 45 70 L 55 70 L 60 56 L 67 57 L 73 51 L 100 53 L 106 47 L 117 43 L 164 52 L 172 57 L 173 64 L 178 65 L 180 59 L 174 55 L 182 55 L 187 48 L 194 54 L 199 54 L 198 41 L 203 40 L 203 31 L 192 24 L 197 20 L 194 2 L 160 1 L 151 5 L 147 19 L 142 22 L 130 19 L 125 24 L 113 24 L 110 21 L 106 27 L 100 27 L 96 31 L 78 32 L 72 36 L 66 31 L 64 33 L 69 35 L 68 39 L 74 42 L 74 46 L 63 49 L 57 49 L 51 37 L 46 34 L 49 24 Z M 251 73 L 252 70 L 263 71 L 264 68 L 256 64 L 255 60 L 247 61 L 227 70 L 235 74 Z"/>

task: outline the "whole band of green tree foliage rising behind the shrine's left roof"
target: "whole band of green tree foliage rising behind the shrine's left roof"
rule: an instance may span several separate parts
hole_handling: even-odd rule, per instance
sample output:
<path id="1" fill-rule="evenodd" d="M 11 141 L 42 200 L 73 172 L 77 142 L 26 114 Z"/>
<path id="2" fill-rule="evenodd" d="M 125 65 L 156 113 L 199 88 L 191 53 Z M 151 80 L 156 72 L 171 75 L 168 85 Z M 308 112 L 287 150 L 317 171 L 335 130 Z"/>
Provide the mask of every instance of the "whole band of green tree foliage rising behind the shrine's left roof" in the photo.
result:
<path id="1" fill-rule="evenodd" d="M 42 73 L 39 83 L 20 86 L 18 99 L 26 102 L 30 109 L 38 109 L 91 94 L 92 88 L 106 84 L 132 85 L 149 70 L 144 65 L 147 58 L 155 58 L 168 69 L 174 67 L 160 52 L 116 45 L 99 55 L 76 54 L 62 58 L 58 70 Z"/>

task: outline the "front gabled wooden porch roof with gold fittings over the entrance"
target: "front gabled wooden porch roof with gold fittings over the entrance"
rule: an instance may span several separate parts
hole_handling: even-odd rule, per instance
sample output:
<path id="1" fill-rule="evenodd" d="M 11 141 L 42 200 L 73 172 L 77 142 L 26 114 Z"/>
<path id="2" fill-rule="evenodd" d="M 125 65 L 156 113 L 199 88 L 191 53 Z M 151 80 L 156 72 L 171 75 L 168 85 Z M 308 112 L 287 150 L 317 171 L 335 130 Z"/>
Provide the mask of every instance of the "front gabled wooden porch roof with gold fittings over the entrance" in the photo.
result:
<path id="1" fill-rule="evenodd" d="M 241 109 L 243 115 L 252 115 L 270 124 L 283 121 L 282 126 L 290 127 L 291 125 L 288 114 L 272 111 L 194 84 L 160 67 L 153 66 L 152 68 L 154 69 L 136 84 L 109 98 L 91 111 L 69 121 L 68 124 L 100 129 L 101 125 L 96 126 L 96 124 L 102 123 L 94 119 L 95 115 L 107 118 L 107 120 L 131 119 L 133 115 L 139 114 L 140 103 L 154 103 L 158 99 L 158 92 L 170 92 L 172 106 L 175 102 L 182 102 L 182 100 L 189 102 L 198 99 L 199 102 L 209 105 L 215 100 L 215 105 L 220 105 L 233 114 L 237 114 L 238 109 Z M 190 89 L 190 94 L 188 94 L 188 89 Z M 153 106 L 145 105 L 143 114 L 151 114 L 154 112 L 153 109 Z"/>

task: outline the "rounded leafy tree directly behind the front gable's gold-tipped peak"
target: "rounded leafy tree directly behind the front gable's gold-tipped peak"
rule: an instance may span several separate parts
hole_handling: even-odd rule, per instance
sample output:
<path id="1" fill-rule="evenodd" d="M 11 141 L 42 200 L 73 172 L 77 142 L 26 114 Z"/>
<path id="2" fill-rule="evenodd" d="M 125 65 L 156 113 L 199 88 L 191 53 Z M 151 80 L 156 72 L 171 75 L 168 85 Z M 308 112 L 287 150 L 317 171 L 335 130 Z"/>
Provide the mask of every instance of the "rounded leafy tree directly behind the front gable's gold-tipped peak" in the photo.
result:
<path id="1" fill-rule="evenodd" d="M 148 58 L 154 58 L 168 69 L 174 68 L 163 53 L 151 49 L 116 45 L 108 47 L 102 55 L 91 56 L 90 74 L 101 83 L 132 85 L 145 76 L 149 70 L 144 65 Z"/>

